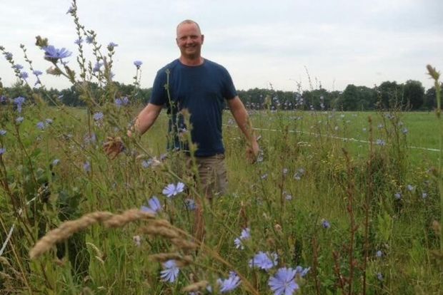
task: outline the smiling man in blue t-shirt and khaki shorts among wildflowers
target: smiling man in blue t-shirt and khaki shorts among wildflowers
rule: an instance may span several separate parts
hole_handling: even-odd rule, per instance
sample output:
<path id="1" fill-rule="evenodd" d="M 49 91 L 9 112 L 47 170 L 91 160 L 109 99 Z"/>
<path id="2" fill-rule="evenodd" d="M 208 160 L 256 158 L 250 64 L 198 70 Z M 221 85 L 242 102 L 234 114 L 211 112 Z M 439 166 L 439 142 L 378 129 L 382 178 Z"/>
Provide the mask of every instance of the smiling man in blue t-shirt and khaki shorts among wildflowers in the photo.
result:
<path id="1" fill-rule="evenodd" d="M 166 105 L 170 115 L 169 132 L 173 134 L 169 148 L 189 152 L 189 146 L 180 140 L 179 133 L 191 128 L 199 180 L 204 195 L 211 198 L 224 194 L 227 189 L 221 135 L 224 100 L 247 138 L 250 162 L 257 159 L 259 145 L 228 71 L 201 56 L 203 42 L 204 35 L 195 21 L 185 20 L 177 26 L 176 44 L 180 57 L 157 72 L 151 100 L 137 116 L 133 131 L 142 135 L 149 130 Z M 184 110 L 190 115 L 191 126 L 185 125 Z M 131 132 L 128 135 L 131 136 Z"/>

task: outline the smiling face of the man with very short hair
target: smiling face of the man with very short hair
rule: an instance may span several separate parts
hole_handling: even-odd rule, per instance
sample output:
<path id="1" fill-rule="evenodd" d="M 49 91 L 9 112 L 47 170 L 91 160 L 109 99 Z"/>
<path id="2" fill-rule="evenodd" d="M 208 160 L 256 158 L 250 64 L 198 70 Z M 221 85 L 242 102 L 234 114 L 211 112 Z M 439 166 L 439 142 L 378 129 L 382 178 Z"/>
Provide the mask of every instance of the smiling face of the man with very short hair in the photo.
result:
<path id="1" fill-rule="evenodd" d="M 201 35 L 196 24 L 181 24 L 177 28 L 176 43 L 180 48 L 181 56 L 185 58 L 199 58 L 204 36 Z"/>

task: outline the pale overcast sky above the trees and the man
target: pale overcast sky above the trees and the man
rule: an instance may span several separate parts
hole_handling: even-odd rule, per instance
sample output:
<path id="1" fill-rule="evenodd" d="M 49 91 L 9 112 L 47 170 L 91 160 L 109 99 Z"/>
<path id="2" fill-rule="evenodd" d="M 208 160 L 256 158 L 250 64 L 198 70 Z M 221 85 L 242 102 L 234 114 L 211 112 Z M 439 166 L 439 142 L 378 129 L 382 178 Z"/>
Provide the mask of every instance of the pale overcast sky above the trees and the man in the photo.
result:
<path id="1" fill-rule="evenodd" d="M 29 71 L 50 63 L 35 36 L 72 51 L 78 38 L 66 14 L 70 0 L 0 0 L 0 46 Z M 227 68 L 239 90 L 344 90 L 384 81 L 422 82 L 431 64 L 443 72 L 442 0 L 77 0 L 80 23 L 94 30 L 102 51 L 117 43 L 114 81 L 134 82 L 134 61 L 142 61 L 141 87 L 150 88 L 159 68 L 179 57 L 176 25 L 193 19 L 204 34 L 202 56 Z M 86 55 L 91 46 L 84 43 Z M 0 56 L 0 78 L 9 87 L 14 71 Z M 29 78 L 30 83 L 34 79 Z M 67 88 L 63 77 L 44 74 L 46 87 Z"/>

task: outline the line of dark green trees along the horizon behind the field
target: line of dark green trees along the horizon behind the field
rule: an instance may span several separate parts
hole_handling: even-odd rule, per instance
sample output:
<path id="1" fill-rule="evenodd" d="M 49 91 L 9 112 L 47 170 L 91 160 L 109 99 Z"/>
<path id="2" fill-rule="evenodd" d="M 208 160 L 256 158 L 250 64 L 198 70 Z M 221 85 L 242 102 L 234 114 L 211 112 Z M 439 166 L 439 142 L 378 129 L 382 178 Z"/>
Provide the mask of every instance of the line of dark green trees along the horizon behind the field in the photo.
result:
<path id="1" fill-rule="evenodd" d="M 114 84 L 118 89 L 115 98 L 126 96 L 131 103 L 144 105 L 151 97 L 151 88 L 137 88 L 118 82 Z M 29 86 L 16 83 L 10 88 L 3 88 L 3 95 L 10 98 L 26 96 L 30 90 Z M 69 106 L 86 105 L 75 86 L 62 90 L 34 88 L 32 91 L 48 100 L 49 104 L 57 100 Z M 91 83 L 91 95 L 99 97 L 103 91 L 99 85 Z M 373 88 L 349 84 L 343 91 L 328 91 L 321 87 L 303 91 L 253 88 L 238 90 L 238 93 L 247 108 L 254 110 L 432 110 L 437 105 L 435 88 L 425 90 L 421 82 L 414 80 L 406 83 L 385 81 Z"/>

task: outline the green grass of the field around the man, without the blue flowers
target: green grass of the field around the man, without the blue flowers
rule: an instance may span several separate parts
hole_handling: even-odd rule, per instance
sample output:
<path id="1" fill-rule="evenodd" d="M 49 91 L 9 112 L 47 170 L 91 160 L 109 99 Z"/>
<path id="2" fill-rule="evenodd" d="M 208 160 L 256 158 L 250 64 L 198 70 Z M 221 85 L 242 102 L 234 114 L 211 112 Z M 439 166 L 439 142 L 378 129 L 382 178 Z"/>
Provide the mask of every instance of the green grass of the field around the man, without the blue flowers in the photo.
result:
<path id="1" fill-rule="evenodd" d="M 0 281 L 9 294 L 186 294 L 182 288 L 196 280 L 208 281 L 219 294 L 216 280 L 232 270 L 242 276 L 232 294 L 273 294 L 269 276 L 296 266 L 311 267 L 297 279 L 299 294 L 440 294 L 439 191 L 432 172 L 439 153 L 411 148 L 439 148 L 433 113 L 252 111 L 262 152 L 249 164 L 244 137 L 227 111 L 229 192 L 203 201 L 206 234 L 199 251 L 144 234 L 144 221 L 136 220 L 113 229 L 98 222 L 68 239 L 65 251 L 86 261 L 81 274 L 73 271 L 74 258 L 56 258 L 55 247 L 29 259 L 36 240 L 61 222 L 140 208 L 154 195 L 163 205 L 158 218 L 191 235 L 194 213 L 184 201 L 201 200 L 191 189 L 194 179 L 174 174 L 174 154 L 159 166 L 143 167 L 143 160 L 166 152 L 166 112 L 139 142 L 124 136 L 141 108 L 105 108 L 100 123 L 81 108 L 47 107 L 25 110 L 20 125 L 10 123 L 13 117 L 2 121 L 7 133 L 1 175 L 9 182 L 0 195 L 0 209 L 8 212 L 0 217 L 2 240 L 16 226 L 3 256 L 8 264 L 2 260 L 0 268 L 9 275 Z M 38 130 L 36 123 L 45 118 L 54 122 Z M 108 136 L 121 136 L 126 145 L 114 160 L 102 148 Z M 174 198 L 162 194 L 179 181 L 190 190 Z M 41 183 L 51 192 L 46 203 L 34 198 L 42 194 Z M 26 218 L 14 218 L 14 200 Z M 251 238 L 238 249 L 234 239 L 245 227 Z M 260 251 L 277 254 L 278 266 L 249 266 Z M 192 258 L 174 283 L 161 281 L 161 263 L 151 258 L 169 252 Z"/>

